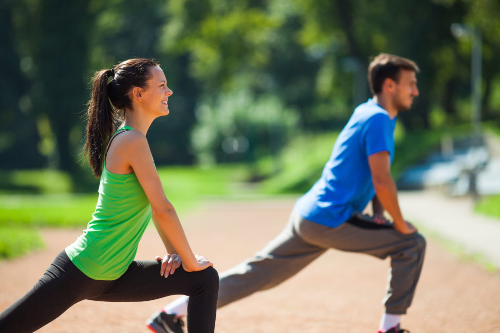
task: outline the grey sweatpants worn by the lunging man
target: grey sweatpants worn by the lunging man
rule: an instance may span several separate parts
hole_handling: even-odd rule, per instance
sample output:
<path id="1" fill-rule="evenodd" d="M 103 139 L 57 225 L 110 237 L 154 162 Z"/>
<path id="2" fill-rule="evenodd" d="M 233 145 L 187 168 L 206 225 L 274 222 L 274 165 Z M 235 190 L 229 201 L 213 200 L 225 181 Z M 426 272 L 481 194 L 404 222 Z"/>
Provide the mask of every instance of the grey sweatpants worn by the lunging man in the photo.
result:
<path id="1" fill-rule="evenodd" d="M 406 313 L 420 276 L 425 240 L 418 233 L 403 235 L 390 226 L 376 225 L 359 214 L 330 228 L 292 212 L 283 231 L 253 258 L 220 274 L 217 307 L 280 284 L 330 248 L 380 259 L 389 256 L 383 303 L 386 313 Z"/>

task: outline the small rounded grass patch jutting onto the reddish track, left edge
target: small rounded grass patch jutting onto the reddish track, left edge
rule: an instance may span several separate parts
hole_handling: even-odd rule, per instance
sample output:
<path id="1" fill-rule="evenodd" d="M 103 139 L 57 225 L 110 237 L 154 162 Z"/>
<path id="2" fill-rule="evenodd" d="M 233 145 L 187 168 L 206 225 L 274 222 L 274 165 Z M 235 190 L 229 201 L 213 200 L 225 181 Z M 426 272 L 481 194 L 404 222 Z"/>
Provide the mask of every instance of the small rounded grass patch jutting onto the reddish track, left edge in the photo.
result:
<path id="1" fill-rule="evenodd" d="M 43 241 L 34 229 L 0 226 L 0 260 L 42 249 Z"/>

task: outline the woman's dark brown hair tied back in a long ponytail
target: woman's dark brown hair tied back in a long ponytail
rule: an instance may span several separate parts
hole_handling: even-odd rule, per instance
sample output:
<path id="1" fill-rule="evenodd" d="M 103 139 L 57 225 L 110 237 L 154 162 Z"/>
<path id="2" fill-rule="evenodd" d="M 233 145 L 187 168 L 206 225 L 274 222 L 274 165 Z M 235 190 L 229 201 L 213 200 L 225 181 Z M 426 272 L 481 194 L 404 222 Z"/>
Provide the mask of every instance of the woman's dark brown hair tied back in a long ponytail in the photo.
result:
<path id="1" fill-rule="evenodd" d="M 95 178 L 100 178 L 107 144 L 115 124 L 125 109 L 131 107 L 128 97 L 136 86 L 144 88 L 151 74 L 149 67 L 158 64 L 149 59 L 125 60 L 112 69 L 95 73 L 92 78 L 92 96 L 88 102 L 87 139 L 84 154 L 92 167 Z M 111 81 L 108 83 L 108 79 Z"/>

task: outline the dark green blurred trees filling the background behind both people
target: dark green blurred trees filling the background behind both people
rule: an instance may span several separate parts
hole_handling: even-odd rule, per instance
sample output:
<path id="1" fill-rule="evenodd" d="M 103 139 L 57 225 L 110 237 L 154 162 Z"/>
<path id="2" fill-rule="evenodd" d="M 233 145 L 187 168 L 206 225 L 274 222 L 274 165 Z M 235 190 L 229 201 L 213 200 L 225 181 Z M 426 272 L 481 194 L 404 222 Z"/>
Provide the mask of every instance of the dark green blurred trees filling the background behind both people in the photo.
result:
<path id="1" fill-rule="evenodd" d="M 470 38 L 454 38 L 453 22 L 481 32 L 483 118 L 496 119 L 499 14 L 496 0 L 1 1 L 0 168 L 59 168 L 69 171 L 73 188 L 94 186 L 78 165 L 87 83 L 96 70 L 131 57 L 158 59 L 174 91 L 170 115 L 148 131 L 157 165 L 277 155 L 293 128 L 284 110 L 293 110 L 290 119 L 299 115 L 306 133 L 339 129 L 368 97 L 366 67 L 382 51 L 421 69 L 420 96 L 399 117 L 403 132 L 467 123 Z M 259 129 L 248 134 L 238 123 L 224 134 L 216 119 L 195 116 L 238 91 L 252 105 L 275 108 L 269 114 L 286 126 L 238 116 Z M 265 131 L 278 138 L 264 138 Z M 224 139 L 234 147 L 243 136 L 244 156 L 220 151 Z"/>

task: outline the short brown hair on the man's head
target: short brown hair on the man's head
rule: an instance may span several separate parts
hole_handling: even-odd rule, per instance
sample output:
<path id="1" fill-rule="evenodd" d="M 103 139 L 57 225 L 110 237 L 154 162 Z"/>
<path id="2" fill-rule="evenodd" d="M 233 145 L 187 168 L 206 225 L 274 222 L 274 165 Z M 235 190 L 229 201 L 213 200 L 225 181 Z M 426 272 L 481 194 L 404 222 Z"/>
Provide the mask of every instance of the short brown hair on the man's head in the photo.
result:
<path id="1" fill-rule="evenodd" d="M 420 71 L 414 61 L 397 55 L 380 53 L 370 62 L 368 66 L 368 84 L 372 94 L 382 91 L 382 84 L 386 78 L 397 82 L 401 69 Z"/>

